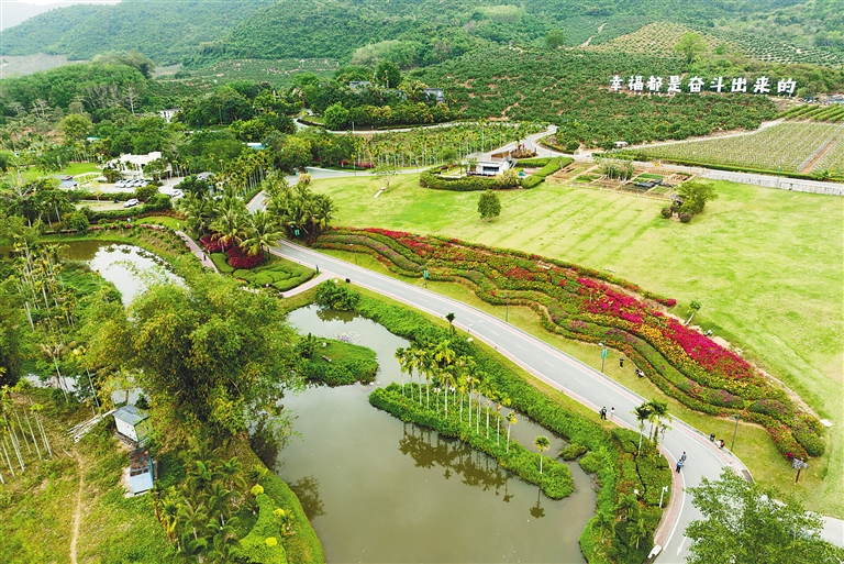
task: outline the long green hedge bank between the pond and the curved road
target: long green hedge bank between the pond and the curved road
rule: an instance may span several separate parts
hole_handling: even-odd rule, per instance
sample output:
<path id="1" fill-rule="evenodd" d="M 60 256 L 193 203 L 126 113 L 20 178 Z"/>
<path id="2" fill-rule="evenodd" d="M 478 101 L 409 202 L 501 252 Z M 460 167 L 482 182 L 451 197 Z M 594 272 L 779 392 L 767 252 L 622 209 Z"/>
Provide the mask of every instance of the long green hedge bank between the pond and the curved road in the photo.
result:
<path id="1" fill-rule="evenodd" d="M 648 531 L 656 528 L 662 516 L 659 493 L 663 486 L 671 484 L 671 472 L 667 462 L 647 441 L 642 453 L 635 456 L 626 451 L 626 444 L 637 441 L 635 432 L 615 430 L 610 433 L 595 420 L 587 419 L 565 409 L 558 401 L 543 394 L 529 379 L 512 373 L 496 357 L 444 328 L 425 320 L 421 314 L 404 307 L 391 306 L 384 301 L 360 296 L 355 307 L 362 316 L 387 328 L 391 333 L 429 346 L 442 340 L 451 340 L 449 346 L 457 355 L 473 356 L 478 369 L 486 373 L 493 387 L 510 398 L 513 409 L 565 436 L 570 443 L 586 446 L 602 461 L 593 472 L 601 489 L 598 493 L 598 513 L 614 516 L 618 521 L 629 518 L 621 508 L 621 501 L 642 493 L 637 505 L 645 518 Z M 620 439 L 624 439 L 622 443 Z M 636 443 L 637 445 L 637 443 Z M 511 445 L 512 449 L 512 445 Z M 597 518 L 587 526 L 580 538 L 580 546 L 590 563 L 598 562 L 643 562 L 653 545 L 652 539 L 643 539 L 638 549 L 631 539 L 623 522 L 614 528 L 611 542 L 598 542 Z"/>

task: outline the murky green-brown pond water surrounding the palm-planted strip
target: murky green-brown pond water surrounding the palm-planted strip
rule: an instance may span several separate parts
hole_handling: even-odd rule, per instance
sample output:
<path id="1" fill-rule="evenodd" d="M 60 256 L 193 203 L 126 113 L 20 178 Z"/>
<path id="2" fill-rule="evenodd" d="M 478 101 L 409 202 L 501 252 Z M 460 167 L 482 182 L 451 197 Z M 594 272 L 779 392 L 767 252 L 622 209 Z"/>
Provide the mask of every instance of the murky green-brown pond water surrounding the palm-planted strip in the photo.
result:
<path id="1" fill-rule="evenodd" d="M 579 466 L 570 497 L 546 498 L 489 456 L 369 405 L 373 386 L 400 381 L 393 353 L 406 340 L 316 307 L 289 319 L 304 333 L 345 333 L 380 364 L 371 386 L 309 387 L 285 400 L 301 440 L 274 471 L 302 500 L 329 562 L 584 562 L 577 540 L 596 499 Z M 537 434 L 549 453 L 563 445 L 522 417 L 512 433 L 531 449 Z"/>

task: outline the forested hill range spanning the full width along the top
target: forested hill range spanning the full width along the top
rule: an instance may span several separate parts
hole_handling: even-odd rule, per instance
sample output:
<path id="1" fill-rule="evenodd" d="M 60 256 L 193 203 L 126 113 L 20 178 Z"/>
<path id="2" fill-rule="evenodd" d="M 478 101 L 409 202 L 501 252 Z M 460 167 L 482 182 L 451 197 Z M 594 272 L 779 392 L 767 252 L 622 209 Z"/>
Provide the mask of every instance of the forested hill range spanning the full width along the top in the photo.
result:
<path id="1" fill-rule="evenodd" d="M 137 48 L 159 65 L 203 66 L 227 58 L 366 63 L 389 51 L 402 66 L 414 66 L 490 44 L 536 45 L 552 30 L 565 33 L 566 45 L 595 45 L 676 22 L 746 54 L 786 42 L 841 57 L 843 13 L 841 0 L 124 0 L 38 15 L 4 31 L 0 53 L 90 58 Z"/>

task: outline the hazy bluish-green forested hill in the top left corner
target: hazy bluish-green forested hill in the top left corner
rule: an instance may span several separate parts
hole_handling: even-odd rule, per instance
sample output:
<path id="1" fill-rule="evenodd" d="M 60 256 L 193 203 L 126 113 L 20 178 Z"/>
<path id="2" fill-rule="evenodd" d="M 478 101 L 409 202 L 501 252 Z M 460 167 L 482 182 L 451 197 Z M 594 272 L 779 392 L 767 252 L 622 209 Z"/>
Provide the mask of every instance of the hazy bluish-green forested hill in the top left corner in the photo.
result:
<path id="1" fill-rule="evenodd" d="M 71 5 L 3 30 L 2 55 L 51 53 L 89 59 L 136 48 L 159 65 L 179 63 L 273 0 L 123 0 Z"/>

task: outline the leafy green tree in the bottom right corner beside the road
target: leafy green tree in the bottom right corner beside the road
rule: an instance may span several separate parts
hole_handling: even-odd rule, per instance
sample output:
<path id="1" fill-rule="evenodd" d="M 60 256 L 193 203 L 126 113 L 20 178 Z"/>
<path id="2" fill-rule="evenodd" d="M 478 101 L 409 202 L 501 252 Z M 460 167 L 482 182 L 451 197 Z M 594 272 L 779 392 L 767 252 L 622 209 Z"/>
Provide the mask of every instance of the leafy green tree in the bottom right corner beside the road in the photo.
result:
<path id="1" fill-rule="evenodd" d="M 724 467 L 718 480 L 702 478 L 688 488 L 702 519 L 692 521 L 686 535 L 689 564 L 840 564 L 844 550 L 821 539 L 821 517 L 802 505 L 748 483 Z"/>

